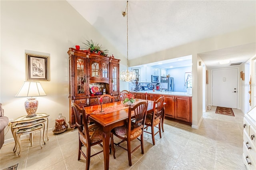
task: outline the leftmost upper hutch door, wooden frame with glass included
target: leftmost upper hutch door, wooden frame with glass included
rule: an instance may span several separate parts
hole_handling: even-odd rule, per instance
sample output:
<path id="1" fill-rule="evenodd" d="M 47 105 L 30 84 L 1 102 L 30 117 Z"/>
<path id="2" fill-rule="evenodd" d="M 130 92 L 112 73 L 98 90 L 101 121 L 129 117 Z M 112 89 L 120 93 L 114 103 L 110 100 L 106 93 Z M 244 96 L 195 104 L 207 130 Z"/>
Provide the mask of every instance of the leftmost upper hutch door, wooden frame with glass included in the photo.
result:
<path id="1" fill-rule="evenodd" d="M 75 96 L 83 96 L 86 95 L 86 59 L 83 57 L 75 57 L 75 61 L 74 92 Z"/>

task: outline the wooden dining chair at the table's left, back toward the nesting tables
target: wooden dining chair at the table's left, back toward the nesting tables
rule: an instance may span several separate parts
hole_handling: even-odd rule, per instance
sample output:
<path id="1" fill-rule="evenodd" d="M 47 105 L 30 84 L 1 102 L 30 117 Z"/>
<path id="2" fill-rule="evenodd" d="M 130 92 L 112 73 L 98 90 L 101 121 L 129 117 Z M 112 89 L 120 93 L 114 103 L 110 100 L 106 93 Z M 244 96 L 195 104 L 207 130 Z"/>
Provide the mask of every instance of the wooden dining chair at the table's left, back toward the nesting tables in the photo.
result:
<path id="1" fill-rule="evenodd" d="M 79 134 L 78 160 L 80 160 L 82 154 L 86 159 L 86 170 L 89 170 L 90 158 L 103 152 L 101 150 L 91 155 L 92 146 L 99 144 L 102 147 L 102 128 L 96 124 L 88 125 L 84 108 L 80 108 L 76 103 L 72 103 L 72 107 Z M 82 151 L 82 146 L 86 146 L 86 154 Z"/>

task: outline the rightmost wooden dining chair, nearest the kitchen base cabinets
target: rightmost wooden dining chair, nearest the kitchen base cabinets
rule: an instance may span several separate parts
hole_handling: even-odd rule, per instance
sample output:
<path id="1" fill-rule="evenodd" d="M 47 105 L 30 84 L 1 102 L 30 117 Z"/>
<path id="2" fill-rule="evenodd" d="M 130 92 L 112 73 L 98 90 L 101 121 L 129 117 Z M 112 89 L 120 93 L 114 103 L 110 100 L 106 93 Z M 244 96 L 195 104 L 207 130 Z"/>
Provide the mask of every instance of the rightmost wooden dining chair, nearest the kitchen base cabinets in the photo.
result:
<path id="1" fill-rule="evenodd" d="M 146 121 L 145 121 L 145 125 L 146 127 L 144 127 L 144 132 L 146 133 L 150 133 L 152 134 L 152 141 L 153 144 L 155 145 L 155 135 L 158 134 L 160 135 L 160 138 L 162 138 L 161 135 L 161 122 L 163 119 L 163 108 L 164 108 L 164 97 L 160 97 L 157 99 L 154 99 L 154 104 L 153 106 L 156 106 L 155 109 L 153 109 L 152 113 L 147 113 L 146 115 Z M 158 125 L 158 127 L 157 127 Z M 151 132 L 148 132 L 148 127 L 151 127 Z M 154 127 L 158 128 L 157 132 L 154 132 Z"/>

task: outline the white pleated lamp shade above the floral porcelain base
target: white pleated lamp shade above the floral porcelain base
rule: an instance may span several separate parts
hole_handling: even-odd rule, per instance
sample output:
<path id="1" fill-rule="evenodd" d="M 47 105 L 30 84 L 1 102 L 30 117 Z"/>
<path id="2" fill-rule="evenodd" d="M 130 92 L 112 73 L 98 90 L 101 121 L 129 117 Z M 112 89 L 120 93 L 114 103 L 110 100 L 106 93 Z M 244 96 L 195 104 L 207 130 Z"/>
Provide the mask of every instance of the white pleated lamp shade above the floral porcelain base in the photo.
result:
<path id="1" fill-rule="evenodd" d="M 46 96 L 39 81 L 24 81 L 22 87 L 15 97 L 36 97 Z"/>

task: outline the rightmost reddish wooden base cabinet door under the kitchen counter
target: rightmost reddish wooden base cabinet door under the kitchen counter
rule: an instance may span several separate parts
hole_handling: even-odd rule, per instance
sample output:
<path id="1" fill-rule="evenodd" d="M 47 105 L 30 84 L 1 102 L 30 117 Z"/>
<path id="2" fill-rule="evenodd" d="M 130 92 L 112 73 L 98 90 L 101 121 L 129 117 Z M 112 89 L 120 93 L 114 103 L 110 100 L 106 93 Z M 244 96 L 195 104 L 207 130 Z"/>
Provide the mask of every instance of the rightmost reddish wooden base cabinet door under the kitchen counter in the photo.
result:
<path id="1" fill-rule="evenodd" d="M 190 97 L 175 96 L 175 119 L 190 122 Z"/>

